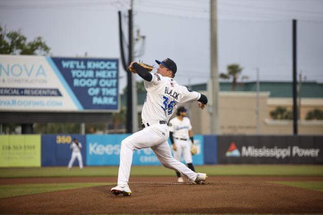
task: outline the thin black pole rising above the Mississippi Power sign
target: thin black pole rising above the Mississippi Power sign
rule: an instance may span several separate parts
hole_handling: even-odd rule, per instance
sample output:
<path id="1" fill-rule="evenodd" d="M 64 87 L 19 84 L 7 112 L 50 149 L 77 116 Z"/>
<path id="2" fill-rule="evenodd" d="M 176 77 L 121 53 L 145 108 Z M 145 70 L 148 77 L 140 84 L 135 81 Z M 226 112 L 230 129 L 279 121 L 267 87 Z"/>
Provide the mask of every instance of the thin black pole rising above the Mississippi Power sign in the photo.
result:
<path id="1" fill-rule="evenodd" d="M 293 19 L 293 130 L 297 135 L 297 20 Z"/>

